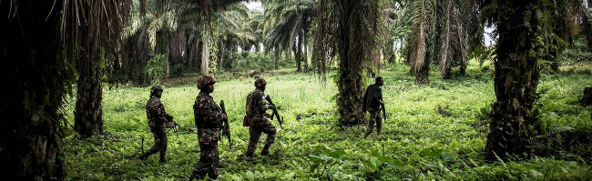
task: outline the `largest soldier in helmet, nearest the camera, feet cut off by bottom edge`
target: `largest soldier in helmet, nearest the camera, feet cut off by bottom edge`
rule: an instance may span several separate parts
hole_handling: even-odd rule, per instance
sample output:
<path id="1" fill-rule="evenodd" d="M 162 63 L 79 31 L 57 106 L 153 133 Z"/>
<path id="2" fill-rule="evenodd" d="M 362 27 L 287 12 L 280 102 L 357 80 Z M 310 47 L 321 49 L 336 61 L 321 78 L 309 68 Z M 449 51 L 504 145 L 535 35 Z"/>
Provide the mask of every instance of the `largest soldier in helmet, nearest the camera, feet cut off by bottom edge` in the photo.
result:
<path id="1" fill-rule="evenodd" d="M 214 92 L 216 79 L 211 75 L 201 75 L 198 79 L 199 96 L 196 97 L 193 105 L 193 116 L 195 116 L 195 126 L 198 127 L 199 149 L 201 151 L 199 162 L 193 169 L 189 177 L 192 179 L 202 179 L 206 175 L 216 179 L 218 177 L 218 140 L 219 131 L 222 123 L 228 117 L 222 114 L 221 109 L 214 98 L 209 96 Z M 226 126 L 229 127 L 229 126 Z M 224 130 L 225 135 L 230 136 L 230 130 Z"/>

